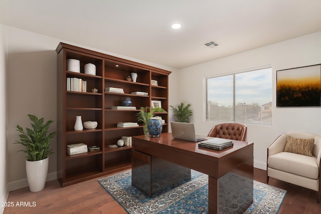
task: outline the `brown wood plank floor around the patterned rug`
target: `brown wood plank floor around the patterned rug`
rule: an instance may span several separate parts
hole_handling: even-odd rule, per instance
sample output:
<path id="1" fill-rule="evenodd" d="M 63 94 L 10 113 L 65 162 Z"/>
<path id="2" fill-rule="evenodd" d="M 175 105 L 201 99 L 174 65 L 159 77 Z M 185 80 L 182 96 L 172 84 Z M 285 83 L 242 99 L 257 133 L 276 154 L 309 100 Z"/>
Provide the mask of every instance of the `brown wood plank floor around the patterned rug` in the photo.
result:
<path id="1" fill-rule="evenodd" d="M 265 183 L 265 170 L 254 168 L 254 179 Z M 270 178 L 269 184 L 287 190 L 280 214 L 321 214 L 321 203 L 316 203 L 315 191 L 274 178 Z M 25 187 L 11 191 L 8 202 L 13 202 L 14 206 L 6 207 L 4 213 L 127 213 L 96 178 L 64 188 L 53 180 L 39 192 L 30 192 Z M 22 206 L 17 206 L 17 202 L 22 202 Z M 28 202 L 30 206 L 26 206 Z"/>

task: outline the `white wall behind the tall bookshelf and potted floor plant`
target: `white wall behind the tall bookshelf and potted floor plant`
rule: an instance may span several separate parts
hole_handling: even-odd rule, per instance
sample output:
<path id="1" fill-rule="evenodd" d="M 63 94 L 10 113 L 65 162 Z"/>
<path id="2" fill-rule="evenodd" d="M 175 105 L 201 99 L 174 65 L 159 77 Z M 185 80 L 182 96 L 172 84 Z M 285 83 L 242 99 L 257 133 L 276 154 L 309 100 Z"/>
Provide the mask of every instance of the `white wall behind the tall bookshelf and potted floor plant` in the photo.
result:
<path id="1" fill-rule="evenodd" d="M 49 130 L 50 132 L 57 129 L 57 53 L 55 50 L 59 42 L 64 42 L 87 49 L 90 48 L 5 25 L 0 26 L 5 29 L 5 32 L 8 35 L 7 173 L 9 182 L 8 190 L 10 191 L 28 186 L 28 182 L 26 179 L 25 153 L 17 152 L 18 150 L 23 149 L 23 146 L 21 146 L 20 144 L 13 144 L 15 140 L 19 139 L 18 132 L 16 131 L 16 125 L 19 124 L 24 128 L 30 127 L 30 121 L 27 114 L 35 114 L 38 117 L 44 117 L 46 121 L 49 119 L 55 120 L 55 122 L 51 125 L 51 128 Z M 4 35 L 4 33 L 2 33 L 1 35 Z M 162 67 L 152 63 L 131 59 L 109 52 L 107 53 L 95 49 L 91 50 L 125 58 L 128 60 L 133 60 L 150 66 L 171 70 L 164 66 Z M 0 53 L 1 51 L 2 50 L 0 49 Z M 172 71 L 175 70 L 172 69 Z M 0 68 L 0 75 L 2 75 L 2 68 Z M 3 78 L 0 78 L 0 81 L 3 81 Z M 172 78 L 170 80 L 170 87 L 177 87 L 175 82 L 176 81 L 173 81 Z M 2 84 L 0 84 L 0 87 L 1 86 Z M 5 93 L 4 90 L 0 90 L 0 93 L 3 92 Z M 170 100 L 176 99 L 177 95 L 170 96 Z M 172 104 L 170 103 L 170 105 Z M 1 109 L 2 106 L 0 105 L 0 111 Z M 2 113 L 0 112 L 0 116 L 1 114 Z M 0 131 L 1 130 L 5 129 L 0 128 Z M 4 140 L 4 142 L 6 141 Z M 6 144 L 1 144 L 1 146 L 2 145 L 6 146 Z M 54 152 L 56 152 L 56 145 L 57 139 L 54 138 L 51 142 L 51 147 L 54 149 Z M 0 152 L 2 151 L 3 149 L 0 148 Z M 1 155 L 0 157 L 3 156 Z M 2 164 L 2 162 L 0 164 Z M 56 179 L 56 171 L 57 155 L 56 153 L 54 153 L 49 156 L 49 170 L 47 180 Z M 0 181 L 2 181 L 1 179 L 2 178 L 0 178 Z M 6 183 L 6 181 L 4 182 Z M 0 193 L 2 192 L 0 191 Z"/>

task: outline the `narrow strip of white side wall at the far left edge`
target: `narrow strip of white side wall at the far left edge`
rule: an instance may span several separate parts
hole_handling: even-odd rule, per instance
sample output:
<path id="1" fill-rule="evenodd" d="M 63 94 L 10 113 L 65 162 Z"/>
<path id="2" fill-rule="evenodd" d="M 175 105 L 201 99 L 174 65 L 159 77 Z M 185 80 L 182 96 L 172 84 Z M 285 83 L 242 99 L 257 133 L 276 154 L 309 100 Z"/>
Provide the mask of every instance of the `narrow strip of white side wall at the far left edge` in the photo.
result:
<path id="1" fill-rule="evenodd" d="M 0 202 L 7 201 L 7 102 L 6 102 L 6 65 L 7 36 L 0 25 Z M 0 213 L 5 207 L 0 206 Z"/>

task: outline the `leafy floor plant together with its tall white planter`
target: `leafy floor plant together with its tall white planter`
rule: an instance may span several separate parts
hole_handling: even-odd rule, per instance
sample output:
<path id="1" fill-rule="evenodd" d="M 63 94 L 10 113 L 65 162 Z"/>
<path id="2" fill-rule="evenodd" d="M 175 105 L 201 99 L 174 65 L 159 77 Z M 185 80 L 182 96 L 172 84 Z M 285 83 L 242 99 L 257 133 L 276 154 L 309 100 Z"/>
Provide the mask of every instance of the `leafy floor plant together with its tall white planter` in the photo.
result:
<path id="1" fill-rule="evenodd" d="M 49 147 L 56 132 L 47 135 L 50 124 L 54 122 L 53 120 L 44 123 L 44 118 L 38 119 L 31 114 L 28 114 L 28 117 L 32 121 L 32 129 L 26 128 L 27 133 L 25 133 L 24 129 L 17 125 L 17 131 L 21 134 L 19 134 L 20 141 L 16 140 L 15 143 L 19 143 L 26 148 L 26 150 L 20 151 L 26 153 L 26 171 L 30 191 L 36 192 L 45 187 L 48 174 L 48 155 L 53 153 Z"/>

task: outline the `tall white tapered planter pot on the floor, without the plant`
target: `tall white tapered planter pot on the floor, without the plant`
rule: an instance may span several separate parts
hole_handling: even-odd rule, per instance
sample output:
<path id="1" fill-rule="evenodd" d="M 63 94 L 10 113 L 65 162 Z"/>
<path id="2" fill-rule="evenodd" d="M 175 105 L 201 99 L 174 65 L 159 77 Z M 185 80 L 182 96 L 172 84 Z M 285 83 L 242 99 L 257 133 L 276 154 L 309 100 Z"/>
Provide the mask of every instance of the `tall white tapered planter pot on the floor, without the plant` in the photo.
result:
<path id="1" fill-rule="evenodd" d="M 45 187 L 48 174 L 49 157 L 43 160 L 28 161 L 26 160 L 26 171 L 29 189 L 37 192 Z"/>

